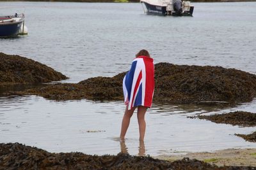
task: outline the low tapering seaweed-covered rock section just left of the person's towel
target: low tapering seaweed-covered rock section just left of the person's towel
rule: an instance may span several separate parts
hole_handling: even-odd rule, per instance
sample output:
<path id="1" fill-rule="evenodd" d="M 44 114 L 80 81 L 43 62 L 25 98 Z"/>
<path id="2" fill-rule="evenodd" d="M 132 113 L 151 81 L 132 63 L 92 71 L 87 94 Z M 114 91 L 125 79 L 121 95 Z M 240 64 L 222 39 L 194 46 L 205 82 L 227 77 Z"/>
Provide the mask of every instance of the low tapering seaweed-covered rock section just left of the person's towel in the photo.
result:
<path id="1" fill-rule="evenodd" d="M 79 83 L 58 83 L 46 87 L 15 92 L 15 94 L 33 94 L 57 101 L 92 99 L 92 100 L 122 100 L 122 78 L 119 74 L 113 78 L 95 77 Z"/>

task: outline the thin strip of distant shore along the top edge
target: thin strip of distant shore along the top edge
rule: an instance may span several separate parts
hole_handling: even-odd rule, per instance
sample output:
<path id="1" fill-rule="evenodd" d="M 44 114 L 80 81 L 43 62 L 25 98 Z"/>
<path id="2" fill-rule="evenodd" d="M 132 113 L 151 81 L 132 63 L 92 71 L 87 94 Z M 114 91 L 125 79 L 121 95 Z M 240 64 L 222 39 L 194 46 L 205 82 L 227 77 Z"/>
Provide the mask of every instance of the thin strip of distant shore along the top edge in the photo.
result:
<path id="1" fill-rule="evenodd" d="M 0 1 L 34 1 L 34 2 L 76 2 L 76 3 L 139 3 L 140 0 L 0 0 Z M 253 2 L 256 0 L 191 0 L 192 3 Z"/>

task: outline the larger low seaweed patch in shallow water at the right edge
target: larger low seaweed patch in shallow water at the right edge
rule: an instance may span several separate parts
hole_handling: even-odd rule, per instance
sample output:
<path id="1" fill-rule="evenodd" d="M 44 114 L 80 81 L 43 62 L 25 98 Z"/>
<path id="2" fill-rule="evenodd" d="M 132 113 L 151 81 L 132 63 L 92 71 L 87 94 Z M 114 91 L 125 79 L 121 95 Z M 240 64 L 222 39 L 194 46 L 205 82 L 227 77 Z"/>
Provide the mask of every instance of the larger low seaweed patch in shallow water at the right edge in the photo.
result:
<path id="1" fill-rule="evenodd" d="M 235 111 L 216 115 L 198 115 L 200 119 L 210 120 L 217 124 L 231 124 L 240 126 L 256 126 L 256 113 Z"/>

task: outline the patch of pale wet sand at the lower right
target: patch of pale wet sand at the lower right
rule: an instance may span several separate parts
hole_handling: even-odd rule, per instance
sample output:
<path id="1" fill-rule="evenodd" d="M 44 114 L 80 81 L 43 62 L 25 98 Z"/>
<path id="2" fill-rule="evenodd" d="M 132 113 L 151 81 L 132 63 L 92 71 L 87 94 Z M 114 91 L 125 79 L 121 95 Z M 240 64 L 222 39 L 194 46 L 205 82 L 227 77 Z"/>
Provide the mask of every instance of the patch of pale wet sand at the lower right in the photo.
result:
<path id="1" fill-rule="evenodd" d="M 253 166 L 256 169 L 256 148 L 226 149 L 216 152 L 188 153 L 186 155 L 161 155 L 163 160 L 179 160 L 183 157 L 197 159 L 216 166 Z"/>

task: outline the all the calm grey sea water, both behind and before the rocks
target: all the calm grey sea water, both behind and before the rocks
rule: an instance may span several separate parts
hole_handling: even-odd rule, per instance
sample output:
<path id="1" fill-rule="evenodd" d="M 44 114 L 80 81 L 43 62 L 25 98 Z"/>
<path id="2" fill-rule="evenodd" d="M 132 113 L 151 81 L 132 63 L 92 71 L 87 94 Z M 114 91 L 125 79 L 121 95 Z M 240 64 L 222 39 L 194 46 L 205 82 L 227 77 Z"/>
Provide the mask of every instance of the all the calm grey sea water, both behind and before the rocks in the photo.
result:
<path id="1" fill-rule="evenodd" d="M 136 52 L 155 63 L 223 66 L 256 74 L 256 3 L 194 3 L 193 17 L 145 15 L 140 3 L 0 2 L 25 8 L 28 36 L 0 39 L 0 52 L 51 66 L 77 83 L 127 71 Z M 2 9 L 12 15 L 20 9 Z M 197 114 L 256 112 L 256 99 L 233 108 L 154 104 L 147 113 L 145 154 L 255 148 L 234 136 L 255 127 L 190 119 Z M 88 100 L 56 102 L 38 96 L 0 97 L 0 143 L 19 142 L 49 152 L 116 154 L 124 104 Z M 136 115 L 125 146 L 140 150 Z"/>

